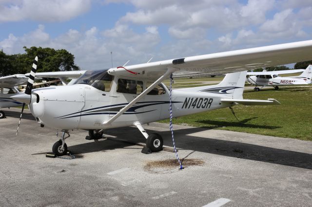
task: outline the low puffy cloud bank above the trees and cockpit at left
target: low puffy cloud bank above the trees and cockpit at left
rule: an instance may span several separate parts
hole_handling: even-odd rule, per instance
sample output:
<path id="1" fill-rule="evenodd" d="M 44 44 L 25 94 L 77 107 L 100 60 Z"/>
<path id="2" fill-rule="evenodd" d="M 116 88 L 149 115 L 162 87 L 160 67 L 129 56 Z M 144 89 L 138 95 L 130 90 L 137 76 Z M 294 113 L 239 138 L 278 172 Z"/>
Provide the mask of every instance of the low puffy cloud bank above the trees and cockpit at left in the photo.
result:
<path id="1" fill-rule="evenodd" d="M 128 59 L 133 64 L 145 62 L 153 56 L 159 41 L 156 26 L 146 27 L 143 33 L 136 33 L 120 24 L 102 32 L 97 27 L 85 32 L 70 29 L 52 38 L 44 31 L 44 26 L 39 25 L 36 30 L 22 36 L 10 34 L 0 42 L 0 48 L 9 54 L 24 52 L 23 46 L 66 49 L 75 55 L 75 62 L 82 69 L 100 69 L 111 66 L 111 51 L 115 66 L 123 65 Z"/>

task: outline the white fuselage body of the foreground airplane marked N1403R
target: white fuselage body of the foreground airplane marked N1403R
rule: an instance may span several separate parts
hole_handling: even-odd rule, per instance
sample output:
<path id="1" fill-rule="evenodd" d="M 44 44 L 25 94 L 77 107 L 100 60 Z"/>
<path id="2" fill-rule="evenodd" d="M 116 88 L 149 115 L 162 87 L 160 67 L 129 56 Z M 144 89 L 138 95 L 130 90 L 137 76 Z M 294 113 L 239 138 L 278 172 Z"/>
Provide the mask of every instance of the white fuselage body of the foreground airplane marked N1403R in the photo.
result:
<path id="1" fill-rule="evenodd" d="M 104 79 L 104 78 L 102 78 Z M 159 84 L 109 125 L 103 125 L 149 85 L 148 81 L 111 77 L 104 86 L 75 84 L 35 89 L 29 108 L 37 121 L 59 129 L 106 129 L 141 124 L 169 118 L 169 90 Z M 127 85 L 127 88 L 123 88 Z M 37 97 L 37 98 L 36 98 Z M 173 115 L 180 117 L 217 108 L 229 107 L 209 92 L 172 91 Z"/>

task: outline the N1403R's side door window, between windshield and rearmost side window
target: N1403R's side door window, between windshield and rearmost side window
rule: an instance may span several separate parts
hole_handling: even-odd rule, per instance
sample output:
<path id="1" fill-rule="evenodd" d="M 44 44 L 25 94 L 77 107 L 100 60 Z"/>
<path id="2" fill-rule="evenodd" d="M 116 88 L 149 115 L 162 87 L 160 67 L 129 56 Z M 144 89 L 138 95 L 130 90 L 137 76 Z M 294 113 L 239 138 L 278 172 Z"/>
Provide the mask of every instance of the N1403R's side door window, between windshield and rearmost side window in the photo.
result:
<path id="1" fill-rule="evenodd" d="M 143 82 L 119 78 L 117 81 L 117 93 L 140 94 L 143 91 Z"/>

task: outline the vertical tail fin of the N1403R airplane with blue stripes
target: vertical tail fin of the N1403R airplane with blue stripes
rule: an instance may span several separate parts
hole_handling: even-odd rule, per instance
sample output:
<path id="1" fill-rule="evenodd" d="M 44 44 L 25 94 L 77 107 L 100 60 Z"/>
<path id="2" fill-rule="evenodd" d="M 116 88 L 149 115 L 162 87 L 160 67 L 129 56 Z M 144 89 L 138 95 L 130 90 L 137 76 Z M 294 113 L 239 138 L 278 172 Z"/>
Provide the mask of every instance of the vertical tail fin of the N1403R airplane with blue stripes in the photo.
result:
<path id="1" fill-rule="evenodd" d="M 228 96 L 231 99 L 243 99 L 247 71 L 228 73 L 221 83 L 213 86 L 182 88 L 188 92 L 206 92 Z"/>

